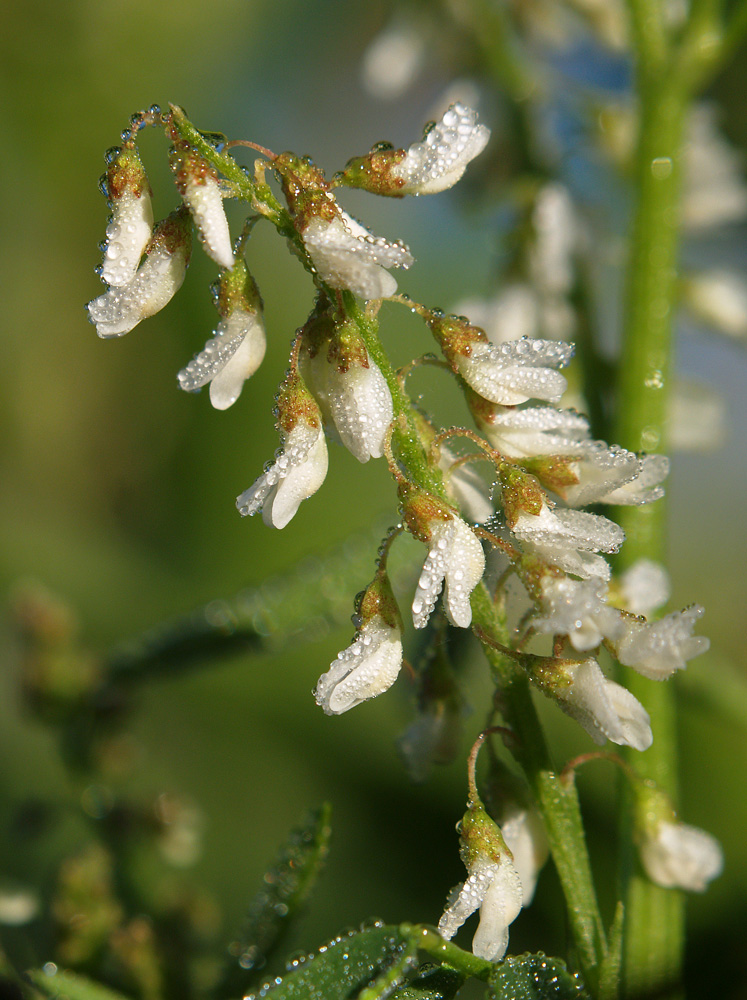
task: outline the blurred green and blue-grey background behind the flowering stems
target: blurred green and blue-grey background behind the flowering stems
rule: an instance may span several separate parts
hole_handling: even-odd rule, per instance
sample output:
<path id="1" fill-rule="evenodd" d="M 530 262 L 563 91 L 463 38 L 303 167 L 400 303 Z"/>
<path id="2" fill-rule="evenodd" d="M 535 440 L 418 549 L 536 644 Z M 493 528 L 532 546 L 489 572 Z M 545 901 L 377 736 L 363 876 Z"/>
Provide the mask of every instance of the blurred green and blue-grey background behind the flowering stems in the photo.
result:
<path id="1" fill-rule="evenodd" d="M 6 594 L 24 581 L 58 594 L 96 649 L 258 586 L 351 533 L 365 536 L 373 568 L 370 525 L 382 514 L 396 519 L 383 468 L 360 466 L 340 448 L 331 451 L 322 490 L 282 532 L 242 520 L 234 509 L 233 498 L 276 448 L 273 396 L 312 297 L 307 276 L 269 227 L 258 227 L 250 248 L 266 304 L 268 353 L 225 413 L 210 408 L 206 393 L 180 393 L 175 380 L 215 322 L 208 292 L 215 268 L 199 248 L 175 300 L 122 340 L 98 340 L 83 310 L 101 289 L 94 268 L 107 215 L 97 191 L 103 153 L 132 112 L 173 101 L 200 128 L 310 153 L 330 172 L 374 141 L 417 137 L 455 67 L 434 48 L 405 100 L 374 101 L 361 86 L 359 61 L 388 11 L 373 0 L 32 0 L 5 15 L 0 578 Z M 738 100 L 744 66 L 742 60 L 715 91 L 737 142 L 747 140 Z M 166 144 L 154 132 L 142 148 L 160 217 L 176 203 Z M 445 307 L 488 290 L 495 220 L 460 211 L 458 196 L 384 204 L 351 195 L 346 204 L 375 232 L 411 246 L 417 264 L 400 280 L 403 290 Z M 730 237 L 741 266 L 744 237 Z M 430 349 L 409 318 L 391 307 L 382 316 L 396 363 Z M 673 602 L 707 609 L 703 631 L 712 652 L 689 670 L 731 662 L 744 673 L 747 356 L 739 345 L 690 327 L 679 364 L 723 393 L 730 433 L 716 452 L 675 459 Z M 433 384 L 423 379 L 424 389 Z M 355 589 L 368 579 L 366 570 Z M 203 852 L 185 877 L 214 895 L 226 934 L 275 845 L 324 799 L 334 809 L 334 839 L 305 945 L 371 914 L 435 922 L 447 889 L 462 877 L 454 823 L 465 797 L 463 765 L 411 785 L 394 745 L 410 717 L 407 682 L 350 716 L 329 719 L 314 704 L 312 687 L 350 633 L 343 626 L 275 657 L 235 657 L 179 681 L 158 681 L 134 715 L 127 789 L 167 791 L 198 804 Z M 80 789 L 70 785 L 53 735 L 21 710 L 9 627 L 4 640 L 0 852 L 6 876 L 44 885 L 74 846 L 77 828 L 19 843 L 15 811 L 29 798 L 75 802 Z M 479 704 L 481 675 L 468 673 L 470 700 Z M 548 719 L 559 758 L 587 749 L 580 730 L 557 714 Z M 469 734 L 481 725 L 475 712 Z M 726 954 L 745 930 L 744 731 L 683 697 L 681 732 L 683 816 L 714 832 L 727 856 L 725 875 L 692 901 L 696 963 L 715 942 Z M 608 777 L 590 772 L 581 779 L 590 823 L 605 836 Z M 605 851 L 598 853 L 603 865 Z M 553 878 L 543 876 L 532 910 L 512 928 L 512 950 L 563 948 Z M 747 995 L 734 989 L 728 995 Z"/>

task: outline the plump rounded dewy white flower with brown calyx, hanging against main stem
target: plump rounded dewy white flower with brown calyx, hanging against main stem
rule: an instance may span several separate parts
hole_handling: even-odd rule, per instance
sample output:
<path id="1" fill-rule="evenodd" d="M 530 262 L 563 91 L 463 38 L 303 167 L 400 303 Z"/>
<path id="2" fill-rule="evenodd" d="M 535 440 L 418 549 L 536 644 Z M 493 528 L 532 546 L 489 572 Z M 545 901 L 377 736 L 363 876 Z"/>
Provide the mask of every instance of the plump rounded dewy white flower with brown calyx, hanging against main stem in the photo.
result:
<path id="1" fill-rule="evenodd" d="M 394 417 L 381 369 L 351 324 L 334 327 L 329 317 L 312 314 L 304 329 L 302 372 L 325 426 L 359 462 L 381 458 Z"/>

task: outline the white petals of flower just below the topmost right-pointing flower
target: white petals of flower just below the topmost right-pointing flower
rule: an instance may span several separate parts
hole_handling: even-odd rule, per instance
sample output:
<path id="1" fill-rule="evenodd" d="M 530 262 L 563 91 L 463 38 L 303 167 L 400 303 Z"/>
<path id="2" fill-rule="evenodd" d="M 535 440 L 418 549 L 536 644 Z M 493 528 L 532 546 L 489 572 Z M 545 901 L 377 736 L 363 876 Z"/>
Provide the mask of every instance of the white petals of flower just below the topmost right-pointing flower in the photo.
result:
<path id="1" fill-rule="evenodd" d="M 394 295 L 397 282 L 385 268 L 413 263 L 404 244 L 372 236 L 346 212 L 331 222 L 314 216 L 301 237 L 322 281 L 362 299 Z"/>

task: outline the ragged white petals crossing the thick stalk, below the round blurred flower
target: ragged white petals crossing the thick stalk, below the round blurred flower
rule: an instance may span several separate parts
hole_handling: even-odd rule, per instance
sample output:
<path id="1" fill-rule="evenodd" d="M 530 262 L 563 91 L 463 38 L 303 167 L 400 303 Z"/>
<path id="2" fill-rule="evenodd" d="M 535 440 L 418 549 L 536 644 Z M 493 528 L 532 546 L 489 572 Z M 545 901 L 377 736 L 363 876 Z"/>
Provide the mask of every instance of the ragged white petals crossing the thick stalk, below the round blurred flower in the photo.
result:
<path id="1" fill-rule="evenodd" d="M 673 611 L 658 622 L 629 620 L 624 634 L 614 643 L 615 655 L 620 663 L 644 677 L 666 680 L 675 671 L 684 670 L 687 660 L 708 650 L 708 639 L 692 634 L 704 610 L 694 604 L 684 611 Z"/>

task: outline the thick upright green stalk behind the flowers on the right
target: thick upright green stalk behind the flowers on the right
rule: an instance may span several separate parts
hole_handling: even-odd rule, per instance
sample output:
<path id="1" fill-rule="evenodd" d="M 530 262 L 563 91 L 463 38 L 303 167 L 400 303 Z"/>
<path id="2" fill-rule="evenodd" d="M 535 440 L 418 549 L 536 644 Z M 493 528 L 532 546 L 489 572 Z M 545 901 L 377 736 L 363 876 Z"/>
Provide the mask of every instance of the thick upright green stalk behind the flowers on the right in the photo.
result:
<path id="1" fill-rule="evenodd" d="M 672 371 L 672 323 L 679 250 L 680 157 L 688 94 L 662 67 L 639 72 L 640 136 L 637 203 L 631 234 L 622 361 L 614 440 L 635 451 L 666 449 Z M 665 561 L 663 501 L 624 507 L 618 520 L 627 540 L 619 566 L 641 558 Z M 644 777 L 671 794 L 677 787 L 674 691 L 628 671 L 626 686 L 645 705 L 654 733 L 644 753 L 629 751 Z M 630 833 L 630 831 L 628 831 Z M 678 995 L 684 941 L 681 894 L 661 889 L 636 867 L 632 844 L 623 872 L 625 996 Z"/>

